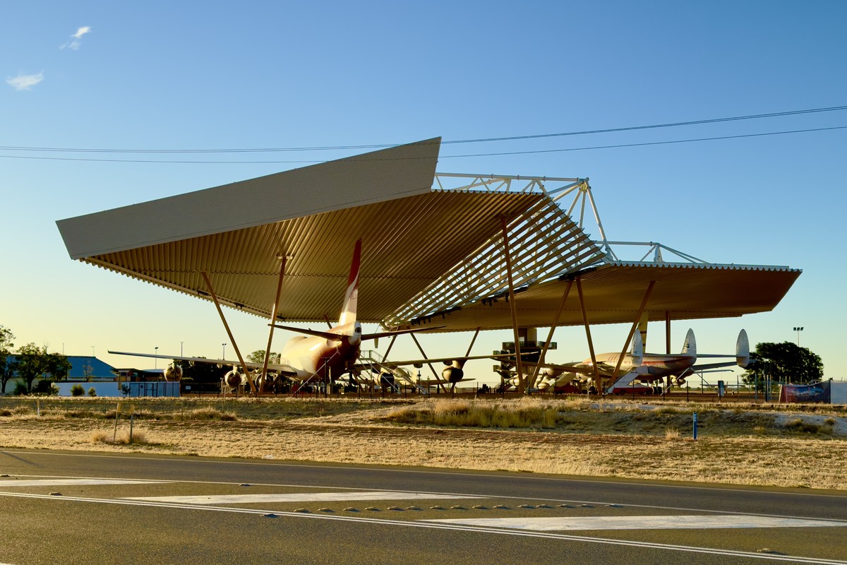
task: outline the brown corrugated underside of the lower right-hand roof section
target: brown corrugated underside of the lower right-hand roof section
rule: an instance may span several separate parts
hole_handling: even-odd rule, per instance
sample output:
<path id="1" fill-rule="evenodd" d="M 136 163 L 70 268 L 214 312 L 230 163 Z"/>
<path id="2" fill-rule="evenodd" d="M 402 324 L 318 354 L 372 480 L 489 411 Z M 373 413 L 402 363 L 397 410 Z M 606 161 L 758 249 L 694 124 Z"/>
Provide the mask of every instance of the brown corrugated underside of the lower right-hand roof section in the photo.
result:
<path id="1" fill-rule="evenodd" d="M 800 276 L 799 269 L 708 265 L 695 263 L 617 263 L 587 269 L 582 280 L 591 324 L 632 323 L 651 280 L 656 281 L 646 311 L 650 320 L 731 318 L 771 311 Z M 556 280 L 529 287 L 515 297 L 518 325 L 544 327 L 553 323 L 567 287 Z M 559 325 L 583 324 L 574 284 Z M 505 297 L 475 302 L 444 315 L 421 320 L 422 327 L 441 331 L 507 329 L 512 327 Z"/>

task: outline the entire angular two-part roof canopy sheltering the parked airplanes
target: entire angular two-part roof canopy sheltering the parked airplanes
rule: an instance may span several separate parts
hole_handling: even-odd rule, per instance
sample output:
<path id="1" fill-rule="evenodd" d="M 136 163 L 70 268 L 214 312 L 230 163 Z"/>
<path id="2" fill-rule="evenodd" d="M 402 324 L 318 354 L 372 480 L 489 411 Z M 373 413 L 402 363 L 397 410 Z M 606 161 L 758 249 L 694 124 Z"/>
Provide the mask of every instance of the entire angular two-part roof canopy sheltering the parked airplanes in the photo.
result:
<path id="1" fill-rule="evenodd" d="M 512 327 L 503 228 L 518 325 L 553 323 L 579 276 L 591 324 L 634 320 L 650 281 L 650 319 L 772 310 L 800 271 L 618 261 L 560 199 L 584 209 L 587 179 L 439 174 L 439 139 L 57 222 L 71 258 L 269 317 L 335 319 L 362 238 L 358 318 L 386 327 Z M 450 177 L 451 179 L 448 179 Z M 446 188 L 448 180 L 464 186 Z M 434 186 L 434 180 L 437 186 Z M 521 188 L 520 183 L 526 183 Z M 551 189 L 554 182 L 565 186 Z M 518 186 L 516 189 L 515 186 Z M 577 208 L 577 199 L 583 204 Z M 602 228 L 600 227 L 601 235 Z M 582 324 L 576 289 L 558 324 Z"/>

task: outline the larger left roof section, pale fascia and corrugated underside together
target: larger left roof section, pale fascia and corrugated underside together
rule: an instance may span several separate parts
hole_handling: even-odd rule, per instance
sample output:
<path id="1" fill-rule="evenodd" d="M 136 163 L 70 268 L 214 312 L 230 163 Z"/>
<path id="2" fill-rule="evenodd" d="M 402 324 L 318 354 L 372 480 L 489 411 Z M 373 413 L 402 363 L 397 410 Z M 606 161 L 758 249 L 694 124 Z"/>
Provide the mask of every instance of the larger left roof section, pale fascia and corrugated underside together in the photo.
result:
<path id="1" fill-rule="evenodd" d="M 358 317 L 380 322 L 542 195 L 432 191 L 439 140 L 58 222 L 71 258 L 269 317 L 335 319 L 363 238 Z"/>

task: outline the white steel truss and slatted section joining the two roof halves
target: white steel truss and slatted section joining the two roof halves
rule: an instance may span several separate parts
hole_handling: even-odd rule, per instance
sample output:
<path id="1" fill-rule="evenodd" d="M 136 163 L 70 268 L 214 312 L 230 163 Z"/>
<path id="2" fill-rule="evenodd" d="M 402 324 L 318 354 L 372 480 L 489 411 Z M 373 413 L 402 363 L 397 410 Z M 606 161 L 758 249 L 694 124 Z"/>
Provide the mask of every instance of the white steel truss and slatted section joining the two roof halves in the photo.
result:
<path id="1" fill-rule="evenodd" d="M 433 191 L 483 191 L 540 194 L 532 207 L 507 218 L 513 290 L 567 278 L 601 266 L 651 266 L 702 269 L 788 269 L 777 266 L 708 263 L 655 241 L 611 241 L 591 192 L 589 179 L 512 175 L 436 173 Z M 591 227 L 599 237 L 586 232 Z M 616 248 L 644 247 L 638 261 L 622 261 Z M 433 318 L 474 304 L 491 305 L 508 294 L 504 235 L 492 235 L 461 263 L 446 271 L 383 320 L 385 327 L 427 324 Z M 674 260 L 675 259 L 675 260 Z M 547 324 L 545 324 L 547 325 Z"/>

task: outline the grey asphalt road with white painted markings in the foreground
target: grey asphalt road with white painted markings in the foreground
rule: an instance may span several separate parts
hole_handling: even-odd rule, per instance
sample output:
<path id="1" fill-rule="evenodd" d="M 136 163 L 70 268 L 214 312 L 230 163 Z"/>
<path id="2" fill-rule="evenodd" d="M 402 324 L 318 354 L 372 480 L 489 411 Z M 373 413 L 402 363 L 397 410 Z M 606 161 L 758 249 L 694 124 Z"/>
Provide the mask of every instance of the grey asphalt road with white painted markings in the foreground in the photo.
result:
<path id="1" fill-rule="evenodd" d="M 847 565 L 839 491 L 78 451 L 0 474 L 0 565 Z"/>

